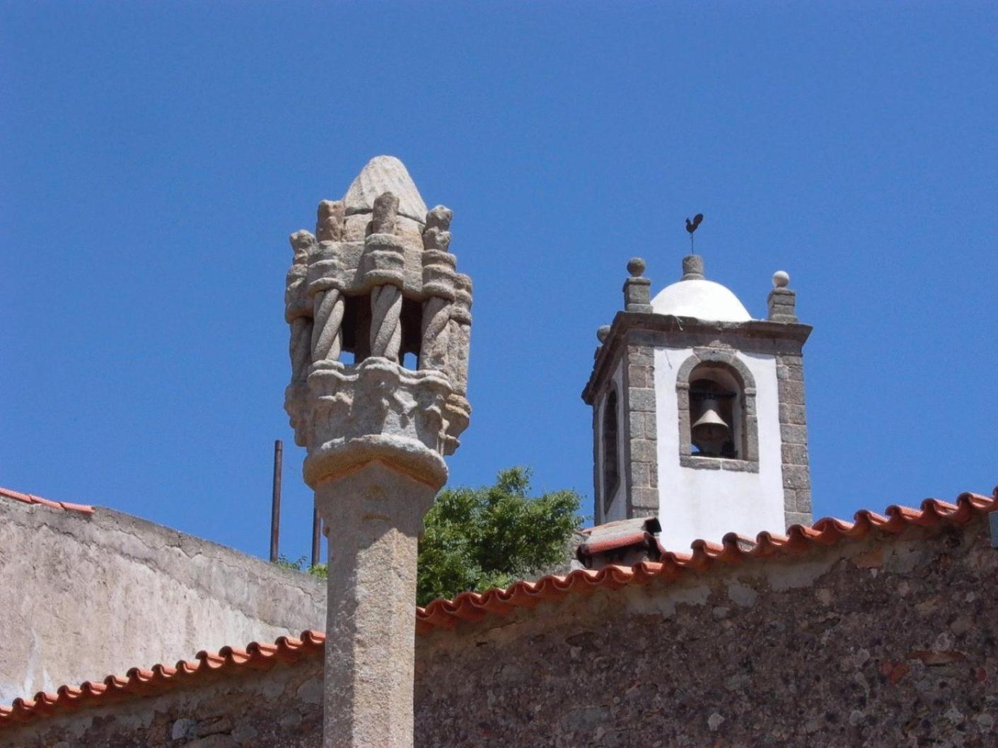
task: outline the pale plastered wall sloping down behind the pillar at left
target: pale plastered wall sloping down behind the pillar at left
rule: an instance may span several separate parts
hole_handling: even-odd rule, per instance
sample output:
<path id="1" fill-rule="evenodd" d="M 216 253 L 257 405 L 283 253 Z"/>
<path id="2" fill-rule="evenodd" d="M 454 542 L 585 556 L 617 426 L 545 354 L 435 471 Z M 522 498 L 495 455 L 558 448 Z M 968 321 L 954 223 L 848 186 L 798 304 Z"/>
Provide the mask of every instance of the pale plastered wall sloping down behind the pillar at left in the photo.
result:
<path id="1" fill-rule="evenodd" d="M 325 584 L 153 523 L 0 499 L 0 703 L 322 628 Z"/>

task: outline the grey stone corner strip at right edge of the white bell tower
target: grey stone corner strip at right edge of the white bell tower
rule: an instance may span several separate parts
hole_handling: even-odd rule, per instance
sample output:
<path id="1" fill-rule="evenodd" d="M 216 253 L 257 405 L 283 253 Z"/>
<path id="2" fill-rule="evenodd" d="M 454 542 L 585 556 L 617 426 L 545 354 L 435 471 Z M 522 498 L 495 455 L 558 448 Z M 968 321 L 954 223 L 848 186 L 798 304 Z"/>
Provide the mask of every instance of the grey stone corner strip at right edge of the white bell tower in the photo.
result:
<path id="1" fill-rule="evenodd" d="M 786 527 L 810 525 L 810 461 L 807 457 L 807 408 L 804 363 L 799 353 L 776 356 L 779 433 L 783 453 L 783 506 Z"/>

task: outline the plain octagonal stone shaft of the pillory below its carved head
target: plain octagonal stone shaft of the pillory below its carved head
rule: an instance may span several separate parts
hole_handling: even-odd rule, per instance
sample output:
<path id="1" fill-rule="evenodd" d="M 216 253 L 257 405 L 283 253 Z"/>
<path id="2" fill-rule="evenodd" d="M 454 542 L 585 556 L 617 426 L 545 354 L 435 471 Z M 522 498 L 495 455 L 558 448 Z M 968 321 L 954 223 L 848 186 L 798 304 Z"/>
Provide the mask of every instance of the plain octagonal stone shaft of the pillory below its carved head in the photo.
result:
<path id="1" fill-rule="evenodd" d="M 412 748 L 416 553 L 436 491 L 380 461 L 315 488 L 329 529 L 322 748 Z"/>

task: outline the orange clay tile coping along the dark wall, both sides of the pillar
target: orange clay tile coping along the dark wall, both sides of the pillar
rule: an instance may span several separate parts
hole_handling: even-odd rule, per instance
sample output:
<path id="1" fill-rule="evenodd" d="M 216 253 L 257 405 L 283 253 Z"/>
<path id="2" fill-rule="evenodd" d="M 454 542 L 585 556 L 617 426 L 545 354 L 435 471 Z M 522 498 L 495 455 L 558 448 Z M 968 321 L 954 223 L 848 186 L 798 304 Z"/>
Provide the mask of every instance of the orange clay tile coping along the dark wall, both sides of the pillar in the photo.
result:
<path id="1" fill-rule="evenodd" d="M 721 545 L 694 541 L 692 554 L 662 549 L 662 561 L 642 561 L 631 567 L 606 566 L 599 571 L 578 569 L 565 576 L 544 576 L 537 581 L 518 581 L 506 589 L 462 592 L 453 600 L 433 600 L 416 608 L 416 630 L 453 628 L 460 620 L 481 620 L 486 615 L 505 614 L 517 607 L 534 607 L 546 600 L 595 589 L 617 589 L 652 579 L 672 580 L 689 571 L 705 571 L 718 564 L 741 563 L 774 556 L 793 556 L 842 541 L 861 540 L 873 531 L 896 535 L 911 527 L 965 525 L 975 517 L 998 510 L 998 488 L 991 497 L 961 494 L 955 504 L 926 499 L 920 509 L 888 507 L 884 515 L 862 510 L 854 521 L 825 518 L 809 528 L 794 525 L 786 536 L 759 533 L 750 540 L 730 533 Z M 78 688 L 61 686 L 54 694 L 40 692 L 34 699 L 15 699 L 0 706 L 0 730 L 18 722 L 47 716 L 57 710 L 99 706 L 115 696 L 152 696 L 210 673 L 267 669 L 275 662 L 294 662 L 322 651 L 325 635 L 303 631 L 298 639 L 281 636 L 273 644 L 251 642 L 246 649 L 223 647 L 218 653 L 199 652 L 191 661 L 176 666 L 153 665 L 149 670 L 132 668 L 126 677 L 109 675 L 100 683 L 88 681 Z"/>

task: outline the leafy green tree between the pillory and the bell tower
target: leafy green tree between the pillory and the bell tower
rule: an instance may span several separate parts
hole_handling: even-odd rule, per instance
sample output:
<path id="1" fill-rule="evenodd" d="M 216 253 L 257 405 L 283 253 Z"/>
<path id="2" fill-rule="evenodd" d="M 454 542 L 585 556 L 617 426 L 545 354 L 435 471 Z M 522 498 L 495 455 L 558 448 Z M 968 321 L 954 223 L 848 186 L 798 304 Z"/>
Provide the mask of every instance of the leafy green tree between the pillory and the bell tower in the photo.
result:
<path id="1" fill-rule="evenodd" d="M 494 486 L 440 492 L 419 542 L 420 605 L 466 589 L 507 586 L 564 561 L 582 525 L 582 498 L 553 491 L 532 499 L 529 491 L 530 470 L 510 468 Z"/>

